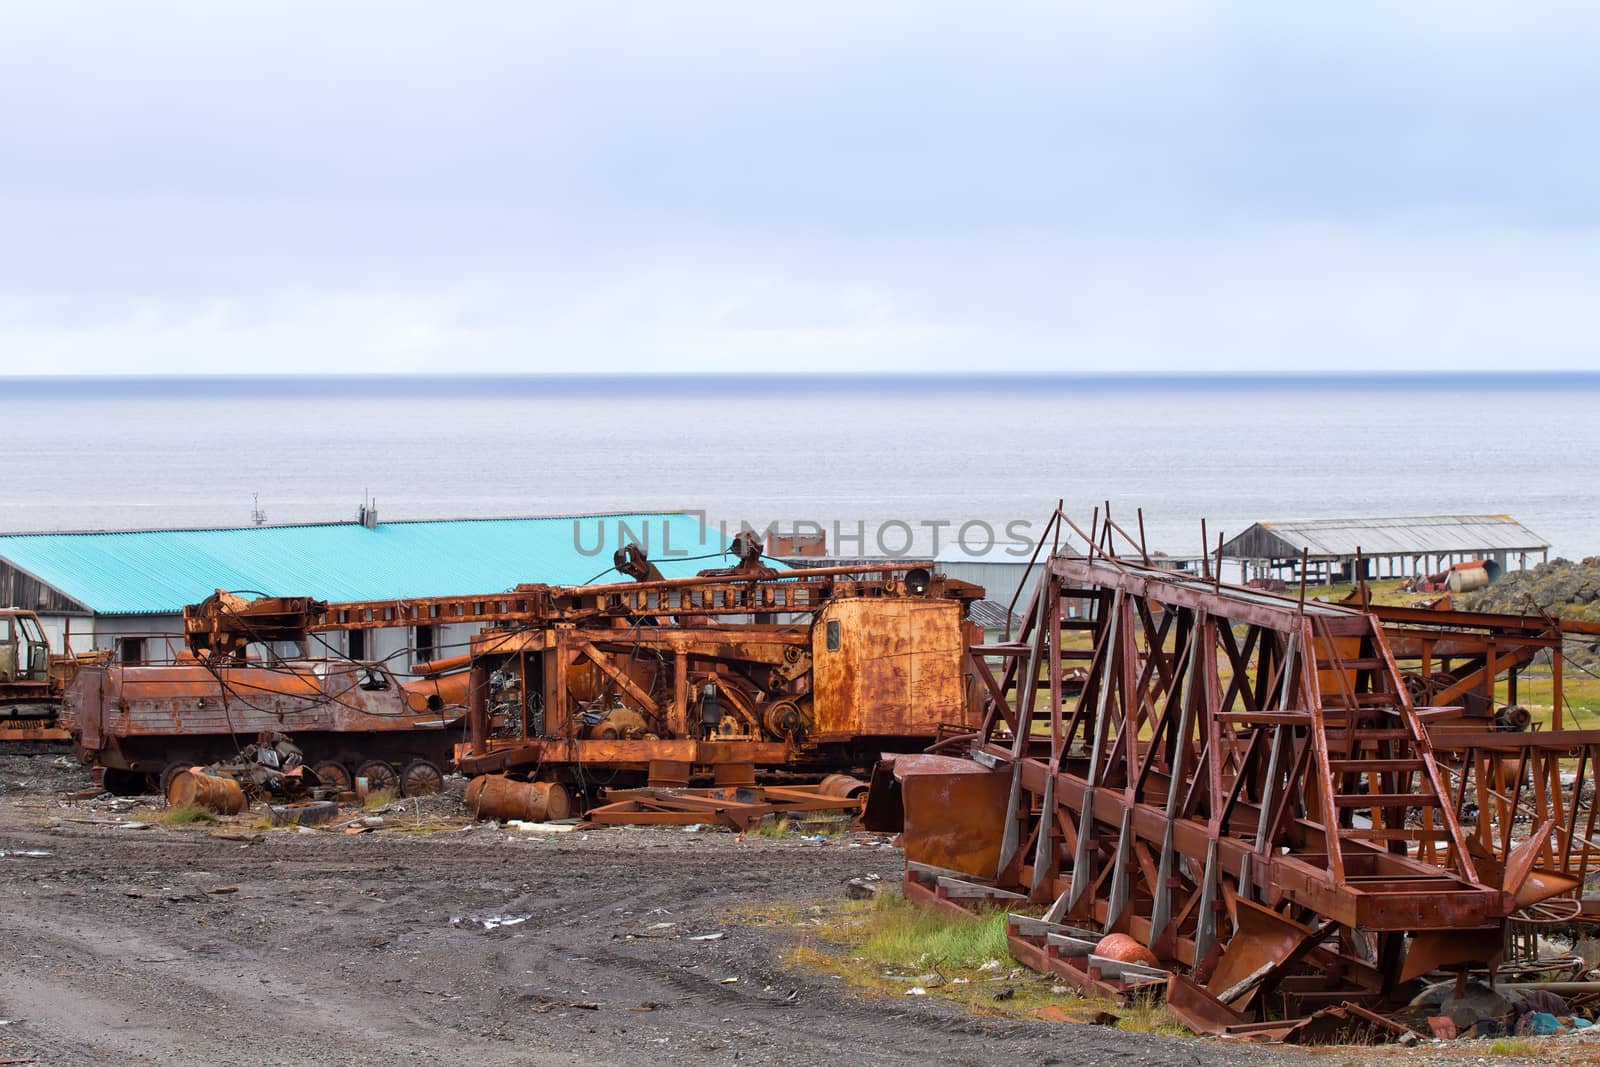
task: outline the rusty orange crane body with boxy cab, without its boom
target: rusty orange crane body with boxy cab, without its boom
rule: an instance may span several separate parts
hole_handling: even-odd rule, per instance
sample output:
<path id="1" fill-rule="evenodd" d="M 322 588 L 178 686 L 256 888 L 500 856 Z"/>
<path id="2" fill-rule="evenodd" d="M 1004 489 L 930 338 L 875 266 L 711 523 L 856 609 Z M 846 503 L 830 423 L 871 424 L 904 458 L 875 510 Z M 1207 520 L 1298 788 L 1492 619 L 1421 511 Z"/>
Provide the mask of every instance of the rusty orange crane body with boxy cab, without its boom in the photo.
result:
<path id="1" fill-rule="evenodd" d="M 485 630 L 461 768 L 578 785 L 597 765 L 658 782 L 859 769 L 973 721 L 963 600 L 840 585 L 797 622 L 678 625 L 654 608 L 606 625 Z"/>

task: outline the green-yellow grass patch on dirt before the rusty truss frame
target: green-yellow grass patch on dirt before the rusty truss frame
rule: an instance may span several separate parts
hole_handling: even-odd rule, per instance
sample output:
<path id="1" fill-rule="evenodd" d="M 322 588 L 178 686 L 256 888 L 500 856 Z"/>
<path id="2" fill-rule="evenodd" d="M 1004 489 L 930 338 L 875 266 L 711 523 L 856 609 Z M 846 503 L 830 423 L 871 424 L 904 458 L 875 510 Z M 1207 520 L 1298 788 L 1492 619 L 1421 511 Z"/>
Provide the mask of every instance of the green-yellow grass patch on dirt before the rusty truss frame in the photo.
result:
<path id="1" fill-rule="evenodd" d="M 867 997 L 904 998 L 912 989 L 981 1016 L 1093 1022 L 1099 1013 L 1117 1027 L 1187 1033 L 1154 1000 L 1114 1005 L 1078 997 L 1056 977 L 1018 965 L 1006 947 L 1005 912 L 950 915 L 878 894 L 870 901 L 826 901 L 744 909 L 750 925 L 795 934 L 784 961 L 832 974 Z"/>

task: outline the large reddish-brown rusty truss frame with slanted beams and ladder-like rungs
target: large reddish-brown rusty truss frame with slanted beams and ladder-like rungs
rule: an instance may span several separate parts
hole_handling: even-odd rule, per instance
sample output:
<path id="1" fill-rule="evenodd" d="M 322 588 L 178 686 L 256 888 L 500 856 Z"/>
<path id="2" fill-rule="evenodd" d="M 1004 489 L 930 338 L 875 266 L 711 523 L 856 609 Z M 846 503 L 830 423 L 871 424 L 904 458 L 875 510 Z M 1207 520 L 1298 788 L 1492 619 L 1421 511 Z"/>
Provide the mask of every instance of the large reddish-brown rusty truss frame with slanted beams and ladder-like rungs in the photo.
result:
<path id="1" fill-rule="evenodd" d="M 1016 641 L 971 649 L 1003 657 L 976 672 L 971 750 L 1006 784 L 998 830 L 907 793 L 907 854 L 942 846 L 1045 921 L 1130 933 L 1230 1011 L 1397 997 L 1408 934 L 1419 960 L 1493 963 L 1522 885 L 1477 869 L 1426 725 L 1454 712 L 1413 704 L 1379 621 L 1083 541 L 1048 560 Z M 938 841 L 914 840 L 941 816 Z M 994 833 L 994 869 L 957 865 Z"/>

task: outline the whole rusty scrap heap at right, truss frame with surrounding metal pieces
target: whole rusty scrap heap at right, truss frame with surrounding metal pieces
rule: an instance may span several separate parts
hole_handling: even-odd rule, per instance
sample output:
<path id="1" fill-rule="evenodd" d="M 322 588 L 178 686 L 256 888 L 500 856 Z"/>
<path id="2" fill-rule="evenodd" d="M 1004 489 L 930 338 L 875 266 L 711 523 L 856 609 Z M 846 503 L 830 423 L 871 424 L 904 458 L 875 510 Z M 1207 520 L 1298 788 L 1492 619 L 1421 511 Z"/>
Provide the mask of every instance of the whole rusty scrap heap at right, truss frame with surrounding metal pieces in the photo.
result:
<path id="1" fill-rule="evenodd" d="M 1165 989 L 1190 1027 L 1240 1035 L 1326 1009 L 1370 1022 L 1426 974 L 1493 973 L 1514 917 L 1574 912 L 1550 904 L 1578 901 L 1592 853 L 1582 765 L 1563 800 L 1550 758 L 1573 739 L 1416 702 L 1360 605 L 1078 533 L 1096 549 L 1045 561 L 1019 638 L 971 649 L 987 705 L 970 750 L 896 758 L 898 793 L 886 768 L 874 781 L 867 821 L 902 817 L 909 897 L 1013 909 L 1018 960 L 1091 995 Z M 1600 733 L 1579 741 L 1592 761 Z M 1486 803 L 1464 824 L 1469 779 Z M 1149 957 L 1102 955 L 1107 933 Z"/>

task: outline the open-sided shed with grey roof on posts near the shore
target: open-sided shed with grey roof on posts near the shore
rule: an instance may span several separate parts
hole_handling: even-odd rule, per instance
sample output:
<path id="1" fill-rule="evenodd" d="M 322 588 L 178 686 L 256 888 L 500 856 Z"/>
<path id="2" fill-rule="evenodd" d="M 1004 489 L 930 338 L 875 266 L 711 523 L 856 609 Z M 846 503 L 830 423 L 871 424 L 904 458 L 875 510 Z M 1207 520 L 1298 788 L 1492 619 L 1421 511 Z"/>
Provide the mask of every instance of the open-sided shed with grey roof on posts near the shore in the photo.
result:
<path id="1" fill-rule="evenodd" d="M 1362 560 L 1363 577 L 1434 574 L 1467 560 L 1491 560 L 1501 571 L 1550 558 L 1550 545 L 1510 515 L 1408 515 L 1397 518 L 1309 518 L 1259 522 L 1222 545 L 1243 577 L 1349 582 Z"/>

